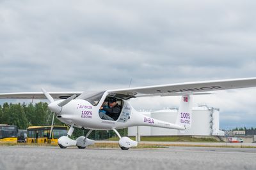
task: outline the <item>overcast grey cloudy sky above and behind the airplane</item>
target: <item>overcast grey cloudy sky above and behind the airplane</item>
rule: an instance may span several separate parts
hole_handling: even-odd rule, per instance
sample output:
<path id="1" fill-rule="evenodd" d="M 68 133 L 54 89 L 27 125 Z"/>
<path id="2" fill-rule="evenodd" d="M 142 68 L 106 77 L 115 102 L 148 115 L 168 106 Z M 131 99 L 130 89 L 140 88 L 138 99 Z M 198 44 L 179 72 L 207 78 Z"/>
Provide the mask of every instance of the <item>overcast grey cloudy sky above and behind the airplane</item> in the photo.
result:
<path id="1" fill-rule="evenodd" d="M 256 76 L 255 1 L 0 0 L 0 92 L 122 89 Z M 256 127 L 256 88 L 195 96 Z M 2 104 L 6 100 L 1 100 Z M 177 107 L 179 97 L 135 99 Z"/>

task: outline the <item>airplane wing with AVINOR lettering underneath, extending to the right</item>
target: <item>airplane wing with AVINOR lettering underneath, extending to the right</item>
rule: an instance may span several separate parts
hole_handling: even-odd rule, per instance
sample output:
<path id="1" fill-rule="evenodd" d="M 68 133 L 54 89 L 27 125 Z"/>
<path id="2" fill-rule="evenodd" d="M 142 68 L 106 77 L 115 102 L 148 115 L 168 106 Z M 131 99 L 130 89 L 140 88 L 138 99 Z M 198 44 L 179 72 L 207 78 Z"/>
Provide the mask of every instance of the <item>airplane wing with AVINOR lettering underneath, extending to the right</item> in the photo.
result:
<path id="1" fill-rule="evenodd" d="M 175 83 L 168 85 L 155 85 L 120 90 L 108 90 L 109 95 L 129 99 L 146 96 L 182 96 L 186 94 L 211 94 L 215 90 L 239 89 L 256 87 L 256 78 L 239 78 L 230 80 L 196 81 L 188 83 Z"/>

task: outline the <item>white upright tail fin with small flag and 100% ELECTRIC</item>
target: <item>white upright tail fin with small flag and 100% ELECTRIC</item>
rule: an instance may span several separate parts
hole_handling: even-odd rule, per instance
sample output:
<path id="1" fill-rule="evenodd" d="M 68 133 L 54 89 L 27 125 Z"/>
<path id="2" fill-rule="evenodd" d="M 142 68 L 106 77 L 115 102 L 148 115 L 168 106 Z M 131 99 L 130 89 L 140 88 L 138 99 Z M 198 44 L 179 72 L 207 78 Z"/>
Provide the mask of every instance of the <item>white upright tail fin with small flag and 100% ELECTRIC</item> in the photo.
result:
<path id="1" fill-rule="evenodd" d="M 180 108 L 176 124 L 189 129 L 192 124 L 192 96 L 184 95 L 181 97 Z"/>

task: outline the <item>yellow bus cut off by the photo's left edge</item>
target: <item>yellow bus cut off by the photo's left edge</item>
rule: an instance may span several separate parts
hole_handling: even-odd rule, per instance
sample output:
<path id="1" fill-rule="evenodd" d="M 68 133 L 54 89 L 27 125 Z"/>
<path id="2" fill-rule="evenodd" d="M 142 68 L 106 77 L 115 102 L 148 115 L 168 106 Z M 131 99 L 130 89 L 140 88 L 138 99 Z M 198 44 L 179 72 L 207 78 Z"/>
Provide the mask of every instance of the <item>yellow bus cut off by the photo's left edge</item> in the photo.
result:
<path id="1" fill-rule="evenodd" d="M 0 124 L 0 142 L 17 143 L 18 128 L 16 125 Z"/>

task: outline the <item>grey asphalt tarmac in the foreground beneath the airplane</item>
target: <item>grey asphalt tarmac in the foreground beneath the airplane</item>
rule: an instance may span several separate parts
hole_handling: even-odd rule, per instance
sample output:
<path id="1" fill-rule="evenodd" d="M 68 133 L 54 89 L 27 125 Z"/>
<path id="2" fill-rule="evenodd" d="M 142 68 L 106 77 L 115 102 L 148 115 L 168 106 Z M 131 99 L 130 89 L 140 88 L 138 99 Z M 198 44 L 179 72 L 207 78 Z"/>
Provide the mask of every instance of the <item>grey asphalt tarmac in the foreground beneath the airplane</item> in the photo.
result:
<path id="1" fill-rule="evenodd" d="M 256 148 L 0 146 L 0 169 L 256 169 Z"/>

